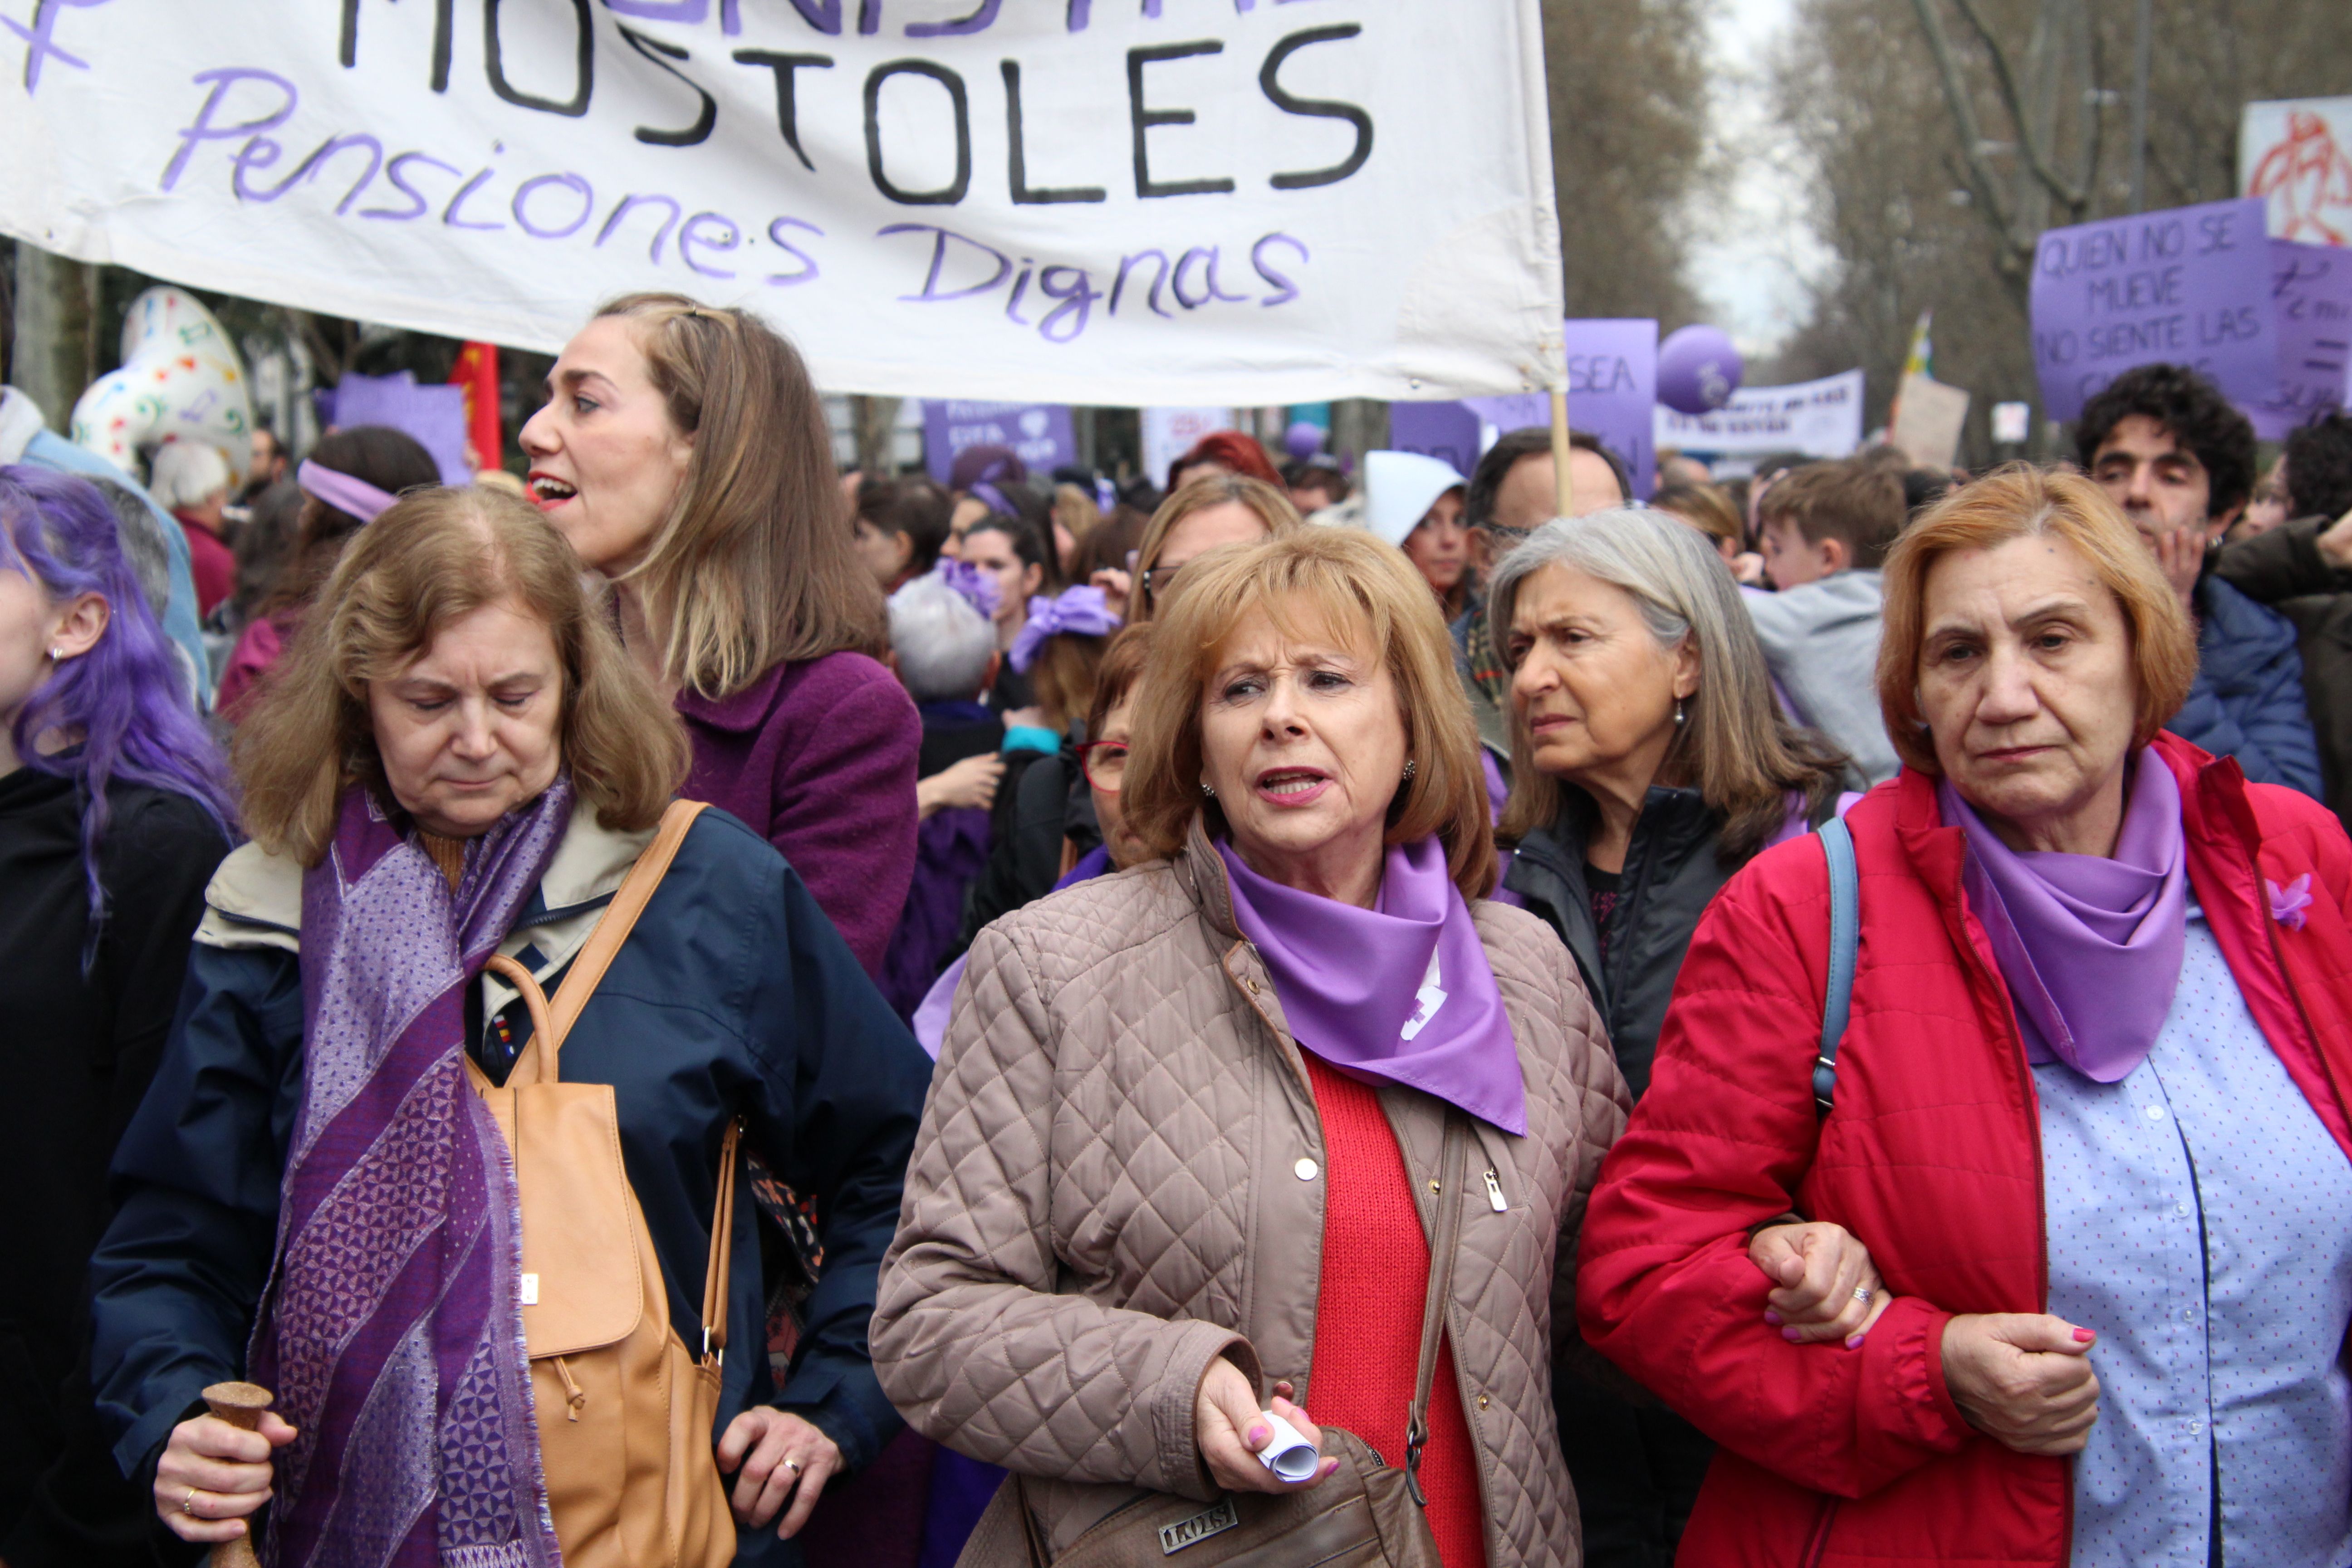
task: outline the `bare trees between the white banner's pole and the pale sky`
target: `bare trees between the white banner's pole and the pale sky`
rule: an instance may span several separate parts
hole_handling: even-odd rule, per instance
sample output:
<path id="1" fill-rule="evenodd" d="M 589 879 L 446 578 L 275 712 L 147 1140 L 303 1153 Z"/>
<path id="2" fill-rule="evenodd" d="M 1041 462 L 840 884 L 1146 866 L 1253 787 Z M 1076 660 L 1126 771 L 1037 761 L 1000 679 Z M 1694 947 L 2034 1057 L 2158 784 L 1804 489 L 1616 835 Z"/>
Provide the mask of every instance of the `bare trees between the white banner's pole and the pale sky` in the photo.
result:
<path id="1" fill-rule="evenodd" d="M 1705 190 L 1703 0 L 1543 0 L 1569 315 L 1703 320 L 1686 202 Z"/>

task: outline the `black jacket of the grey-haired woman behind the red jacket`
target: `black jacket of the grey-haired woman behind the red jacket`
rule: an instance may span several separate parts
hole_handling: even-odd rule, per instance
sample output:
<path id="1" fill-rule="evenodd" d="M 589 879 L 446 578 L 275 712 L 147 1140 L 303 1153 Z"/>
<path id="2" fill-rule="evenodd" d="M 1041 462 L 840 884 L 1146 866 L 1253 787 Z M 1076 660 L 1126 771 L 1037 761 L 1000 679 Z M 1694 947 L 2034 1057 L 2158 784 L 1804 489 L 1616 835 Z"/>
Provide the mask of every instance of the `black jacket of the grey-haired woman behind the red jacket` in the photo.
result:
<path id="1" fill-rule="evenodd" d="M 1609 917 L 1609 961 L 1602 964 L 1599 931 L 1585 886 L 1585 839 L 1595 806 L 1581 790 L 1564 792 L 1562 820 L 1531 832 L 1510 860 L 1503 886 L 1526 900 L 1529 912 L 1550 922 L 1576 954 L 1576 971 L 1609 1025 L 1625 1086 L 1639 1100 L 1649 1088 L 1649 1063 L 1658 1053 L 1665 1004 L 1682 973 L 1698 917 L 1743 863 L 1724 863 L 1717 844 L 1724 813 L 1698 790 L 1653 788 L 1642 802 L 1625 846 L 1618 905 Z"/>

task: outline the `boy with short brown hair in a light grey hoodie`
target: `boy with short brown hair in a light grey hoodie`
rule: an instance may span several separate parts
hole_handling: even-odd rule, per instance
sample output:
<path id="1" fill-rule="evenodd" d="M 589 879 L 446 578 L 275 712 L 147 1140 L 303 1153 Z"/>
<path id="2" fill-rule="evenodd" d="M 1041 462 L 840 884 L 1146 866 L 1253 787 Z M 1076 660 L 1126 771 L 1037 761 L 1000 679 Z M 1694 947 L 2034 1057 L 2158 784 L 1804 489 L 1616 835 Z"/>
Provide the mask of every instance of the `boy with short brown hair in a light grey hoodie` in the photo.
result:
<path id="1" fill-rule="evenodd" d="M 1903 531 L 1903 480 L 1884 463 L 1809 463 L 1757 508 L 1764 576 L 1748 616 L 1799 724 L 1830 736 L 1870 783 L 1896 776 L 1879 719 L 1879 562 Z"/>

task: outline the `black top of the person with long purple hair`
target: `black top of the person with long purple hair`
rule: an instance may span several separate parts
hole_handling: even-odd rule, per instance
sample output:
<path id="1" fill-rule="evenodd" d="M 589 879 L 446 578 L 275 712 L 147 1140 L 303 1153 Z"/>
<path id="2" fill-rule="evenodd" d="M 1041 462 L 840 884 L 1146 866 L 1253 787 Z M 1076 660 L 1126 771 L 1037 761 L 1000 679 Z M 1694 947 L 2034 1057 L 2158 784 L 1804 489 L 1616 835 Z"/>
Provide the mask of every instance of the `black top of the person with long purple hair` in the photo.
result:
<path id="1" fill-rule="evenodd" d="M 89 882 L 82 790 L 0 778 L 0 1561 L 148 1561 L 153 1502 L 122 1479 L 89 1401 L 89 1253 L 106 1229 L 106 1161 L 172 1027 L 188 936 L 228 837 L 188 799 L 108 790 L 99 839 L 108 917 L 82 973 Z"/>

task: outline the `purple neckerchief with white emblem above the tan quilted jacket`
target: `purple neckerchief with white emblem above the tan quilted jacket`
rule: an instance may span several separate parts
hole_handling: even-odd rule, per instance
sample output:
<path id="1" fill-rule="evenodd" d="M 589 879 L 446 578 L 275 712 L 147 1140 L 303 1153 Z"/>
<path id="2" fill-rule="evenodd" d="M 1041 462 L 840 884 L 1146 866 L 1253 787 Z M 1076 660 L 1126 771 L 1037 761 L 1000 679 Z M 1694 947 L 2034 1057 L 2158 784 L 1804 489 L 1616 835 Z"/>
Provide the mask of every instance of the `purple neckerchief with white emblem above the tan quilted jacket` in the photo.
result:
<path id="1" fill-rule="evenodd" d="M 1216 853 L 1301 1046 L 1526 1135 L 1519 1041 L 1435 835 L 1388 851 L 1369 910 L 1261 877 L 1225 842 Z"/>

